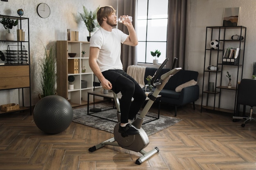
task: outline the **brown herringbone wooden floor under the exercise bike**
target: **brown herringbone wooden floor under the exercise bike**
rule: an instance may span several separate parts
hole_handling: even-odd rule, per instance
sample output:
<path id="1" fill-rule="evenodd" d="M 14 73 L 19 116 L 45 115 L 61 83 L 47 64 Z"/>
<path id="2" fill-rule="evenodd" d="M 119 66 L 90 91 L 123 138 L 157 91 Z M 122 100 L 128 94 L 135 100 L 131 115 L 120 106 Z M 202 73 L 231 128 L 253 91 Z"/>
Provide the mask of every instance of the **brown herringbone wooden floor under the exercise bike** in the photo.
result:
<path id="1" fill-rule="evenodd" d="M 0 114 L 0 170 L 256 170 L 256 122 L 242 128 L 232 115 L 200 113 L 200 106 L 177 110 L 182 121 L 149 137 L 145 150 L 160 151 L 141 165 L 140 153 L 123 148 L 88 151 L 112 133 L 72 122 L 47 135 L 29 112 Z M 162 105 L 160 114 L 173 116 L 174 108 Z"/>

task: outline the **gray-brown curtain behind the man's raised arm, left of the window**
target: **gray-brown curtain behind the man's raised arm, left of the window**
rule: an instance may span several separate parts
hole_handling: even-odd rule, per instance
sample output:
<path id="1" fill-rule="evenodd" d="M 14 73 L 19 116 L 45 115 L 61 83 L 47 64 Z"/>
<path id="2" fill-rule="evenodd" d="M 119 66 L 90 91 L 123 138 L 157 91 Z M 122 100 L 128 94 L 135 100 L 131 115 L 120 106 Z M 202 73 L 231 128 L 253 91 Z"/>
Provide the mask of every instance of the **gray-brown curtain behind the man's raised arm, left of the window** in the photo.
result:
<path id="1" fill-rule="evenodd" d="M 135 11 L 137 11 L 137 0 L 118 0 L 118 7 L 117 7 L 117 17 L 120 15 L 129 15 L 132 16 L 133 21 L 132 24 L 136 30 L 136 22 L 135 18 Z M 123 31 L 126 34 L 128 33 L 128 29 L 123 24 L 117 24 L 118 29 Z M 132 64 L 137 64 L 136 58 L 136 50 L 133 46 L 122 45 L 121 46 L 121 60 L 123 62 L 124 71 L 127 71 L 127 67 Z"/>

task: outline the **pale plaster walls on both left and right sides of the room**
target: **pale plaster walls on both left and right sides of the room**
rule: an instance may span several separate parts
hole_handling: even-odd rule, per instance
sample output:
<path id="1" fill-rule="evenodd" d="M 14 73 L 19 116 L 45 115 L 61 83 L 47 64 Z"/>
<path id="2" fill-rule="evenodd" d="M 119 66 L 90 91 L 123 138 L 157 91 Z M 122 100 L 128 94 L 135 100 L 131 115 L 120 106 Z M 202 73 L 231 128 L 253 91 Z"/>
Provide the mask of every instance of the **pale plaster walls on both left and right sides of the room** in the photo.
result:
<path id="1" fill-rule="evenodd" d="M 36 7 L 41 2 L 40 0 L 0 1 L 0 14 L 18 16 L 16 11 L 21 8 L 24 10 L 23 17 L 29 18 L 32 105 L 38 101 L 39 90 L 36 80 L 38 66 L 36 64 L 42 57 L 43 45 L 55 43 L 56 40 L 67 40 L 66 30 L 69 28 L 77 29 L 79 31 L 79 40 L 87 41 L 86 37 L 89 33 L 83 22 L 79 22 L 77 25 L 73 18 L 73 14 L 78 15 L 78 12 L 82 11 L 82 5 L 92 10 L 104 5 L 112 5 L 117 9 L 117 0 L 44 0 L 43 2 L 47 3 L 51 8 L 51 15 L 49 18 L 43 19 L 36 13 Z M 187 59 L 185 69 L 199 72 L 198 84 L 200 88 L 202 87 L 206 26 L 221 26 L 225 7 L 240 7 L 239 25 L 247 27 L 243 77 L 250 78 L 252 76 L 252 63 L 256 61 L 256 48 L 254 48 L 256 40 L 256 0 L 188 0 Z M 4 40 L 4 35 L 5 30 L 0 25 L 1 40 Z M 0 50 L 5 50 L 6 46 L 7 44 L 0 43 Z M 17 103 L 15 92 L 16 90 L 0 91 L 0 105 Z M 227 96 L 230 95 L 227 94 Z M 201 104 L 201 97 L 196 104 Z M 233 108 L 233 103 L 230 103 L 229 99 L 224 104 L 227 108 Z"/>

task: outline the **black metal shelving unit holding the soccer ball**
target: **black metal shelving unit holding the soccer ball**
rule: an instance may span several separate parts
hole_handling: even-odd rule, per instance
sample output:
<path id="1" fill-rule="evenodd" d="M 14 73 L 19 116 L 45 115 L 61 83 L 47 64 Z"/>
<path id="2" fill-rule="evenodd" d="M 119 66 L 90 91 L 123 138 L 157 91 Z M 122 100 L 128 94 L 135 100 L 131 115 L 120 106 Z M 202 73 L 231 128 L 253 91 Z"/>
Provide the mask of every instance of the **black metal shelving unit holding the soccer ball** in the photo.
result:
<path id="1" fill-rule="evenodd" d="M 232 40 L 232 35 L 239 35 L 240 39 Z M 243 37 L 243 38 L 241 38 Z M 211 40 L 218 40 L 218 49 L 211 49 L 209 44 Z M 243 78 L 243 64 L 245 57 L 245 41 L 246 41 L 246 27 L 245 26 L 207 26 L 205 37 L 205 51 L 204 51 L 204 72 L 203 72 L 203 84 L 202 84 L 202 109 L 216 110 L 227 113 L 236 112 L 236 96 L 238 89 L 238 82 Z M 238 58 L 227 60 L 224 55 L 227 48 L 239 48 Z M 224 57 L 224 58 L 223 58 Z M 236 62 L 235 62 L 236 61 Z M 208 66 L 217 66 L 218 70 L 208 70 Z M 233 75 L 235 83 L 231 88 L 224 84 L 222 77 L 225 76 L 225 67 L 231 67 L 235 69 L 236 75 Z M 209 82 L 214 82 L 214 91 L 208 91 Z M 234 91 L 234 109 L 221 108 L 222 92 Z M 213 102 L 209 102 L 212 101 Z M 233 102 L 233 101 L 232 101 Z"/>

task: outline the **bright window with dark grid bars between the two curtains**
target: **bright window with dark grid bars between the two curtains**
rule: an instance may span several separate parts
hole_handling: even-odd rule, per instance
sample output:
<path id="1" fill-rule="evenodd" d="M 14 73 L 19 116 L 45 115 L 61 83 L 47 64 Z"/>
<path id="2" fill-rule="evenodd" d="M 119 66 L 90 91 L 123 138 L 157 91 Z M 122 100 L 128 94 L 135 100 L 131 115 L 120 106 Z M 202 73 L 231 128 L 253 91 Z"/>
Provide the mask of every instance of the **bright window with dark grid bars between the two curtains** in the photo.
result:
<path id="1" fill-rule="evenodd" d="M 153 63 L 150 51 L 159 50 L 162 63 L 166 58 L 168 0 L 138 0 L 137 62 Z"/>

